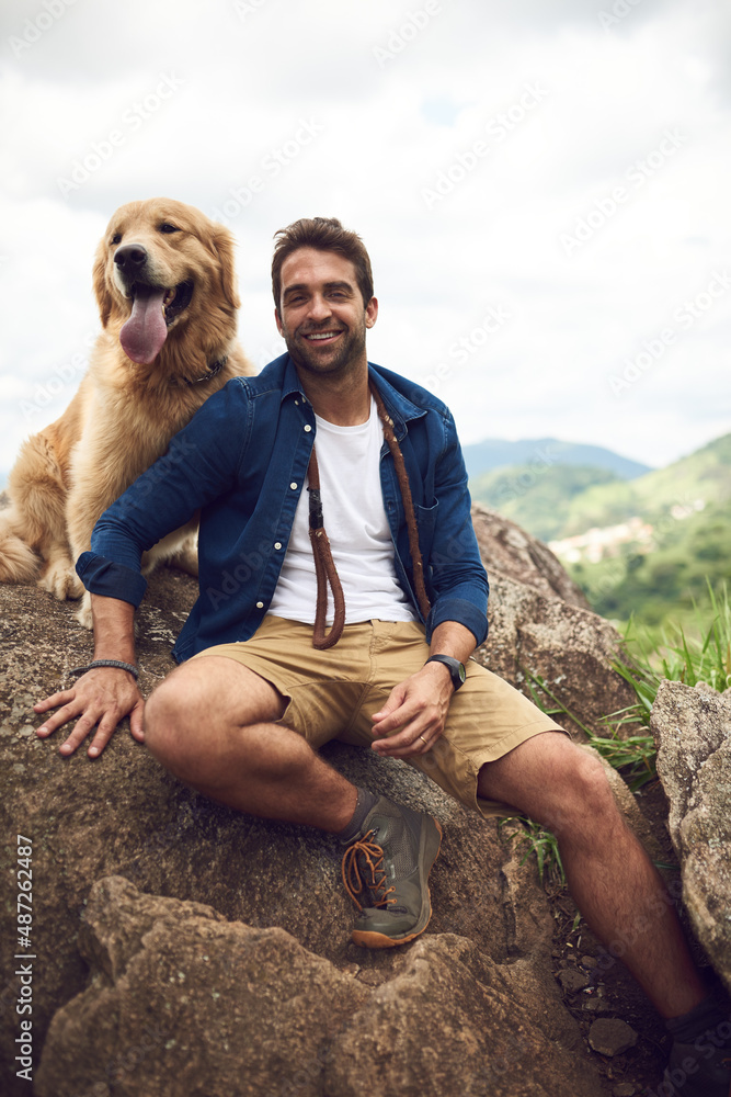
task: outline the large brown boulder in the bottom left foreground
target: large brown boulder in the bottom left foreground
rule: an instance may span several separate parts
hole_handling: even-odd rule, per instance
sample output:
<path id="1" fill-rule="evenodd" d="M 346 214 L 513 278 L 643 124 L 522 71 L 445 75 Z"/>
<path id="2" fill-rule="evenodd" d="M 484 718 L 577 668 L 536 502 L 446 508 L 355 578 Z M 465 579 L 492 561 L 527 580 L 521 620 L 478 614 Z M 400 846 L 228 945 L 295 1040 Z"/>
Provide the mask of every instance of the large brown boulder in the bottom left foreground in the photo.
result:
<path id="1" fill-rule="evenodd" d="M 37 1097 L 317 1097 L 334 1038 L 373 994 L 283 929 L 121 877 L 92 889 L 79 943 L 91 981 L 53 1019 Z"/>

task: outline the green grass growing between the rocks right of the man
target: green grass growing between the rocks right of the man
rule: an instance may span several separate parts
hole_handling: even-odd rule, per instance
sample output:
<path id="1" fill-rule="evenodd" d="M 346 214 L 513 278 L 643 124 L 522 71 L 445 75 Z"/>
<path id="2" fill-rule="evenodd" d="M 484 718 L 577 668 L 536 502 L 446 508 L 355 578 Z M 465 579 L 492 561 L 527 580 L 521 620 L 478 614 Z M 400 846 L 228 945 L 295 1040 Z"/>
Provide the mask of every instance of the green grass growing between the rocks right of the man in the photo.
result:
<path id="1" fill-rule="evenodd" d="M 731 600 L 726 583 L 715 590 L 708 581 L 708 604 L 712 620 L 703 620 L 697 610 L 697 629 L 694 633 L 682 625 L 669 626 L 662 633 L 642 634 L 633 620 L 621 641 L 620 654 L 613 661 L 613 669 L 628 682 L 636 697 L 633 704 L 619 712 L 608 713 L 603 722 L 606 735 L 596 735 L 559 700 L 539 675 L 524 671 L 534 702 L 550 716 L 568 716 L 586 735 L 589 743 L 618 770 L 636 792 L 655 777 L 655 745 L 650 733 L 650 714 L 660 682 L 663 679 L 681 681 L 686 686 L 706 682 L 719 692 L 731 686 Z M 628 731 L 630 734 L 627 734 Z M 535 853 L 538 874 L 544 879 L 566 885 L 558 841 L 550 830 L 525 815 L 511 816 L 522 829 L 512 835 L 527 844 L 521 861 Z M 501 822 L 501 826 L 507 819 Z M 665 866 L 663 866 L 665 867 Z"/>

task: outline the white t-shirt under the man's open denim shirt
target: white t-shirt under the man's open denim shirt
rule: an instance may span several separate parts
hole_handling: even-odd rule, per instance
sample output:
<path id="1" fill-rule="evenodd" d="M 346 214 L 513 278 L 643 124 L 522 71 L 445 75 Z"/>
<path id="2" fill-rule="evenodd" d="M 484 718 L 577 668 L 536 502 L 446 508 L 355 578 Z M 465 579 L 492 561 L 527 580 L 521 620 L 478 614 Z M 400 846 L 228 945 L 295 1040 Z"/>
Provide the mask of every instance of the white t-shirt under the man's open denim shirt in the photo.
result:
<path id="1" fill-rule="evenodd" d="M 315 440 L 323 525 L 345 599 L 345 621 L 415 621 L 396 578 L 393 542 L 380 489 L 384 433 L 370 400 L 367 422 L 339 427 L 316 416 Z M 287 552 L 269 612 L 315 623 L 317 579 L 309 538 L 309 493 L 302 487 Z M 327 624 L 333 599 L 328 585 Z"/>

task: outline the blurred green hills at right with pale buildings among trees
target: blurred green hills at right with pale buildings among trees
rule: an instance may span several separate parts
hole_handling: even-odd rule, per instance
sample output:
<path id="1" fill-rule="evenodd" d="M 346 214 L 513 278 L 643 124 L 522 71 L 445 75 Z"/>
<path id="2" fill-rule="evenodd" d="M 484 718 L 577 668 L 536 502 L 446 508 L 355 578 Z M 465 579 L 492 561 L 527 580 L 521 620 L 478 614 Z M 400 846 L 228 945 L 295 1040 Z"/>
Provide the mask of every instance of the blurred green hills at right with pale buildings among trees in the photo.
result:
<path id="1" fill-rule="evenodd" d="M 731 586 L 731 434 L 632 480 L 518 465 L 478 476 L 470 489 L 541 540 L 579 538 L 557 551 L 603 617 L 688 624 L 694 601 L 707 603 L 707 581 Z"/>

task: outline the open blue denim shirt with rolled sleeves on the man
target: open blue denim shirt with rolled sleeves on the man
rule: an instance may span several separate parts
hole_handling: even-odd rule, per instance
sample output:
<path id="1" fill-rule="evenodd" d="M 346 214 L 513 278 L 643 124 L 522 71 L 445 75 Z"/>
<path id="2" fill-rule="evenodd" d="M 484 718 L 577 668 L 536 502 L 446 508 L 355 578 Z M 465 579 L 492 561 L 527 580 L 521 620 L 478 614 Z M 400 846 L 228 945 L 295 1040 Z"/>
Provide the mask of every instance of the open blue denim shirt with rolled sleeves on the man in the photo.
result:
<path id="1" fill-rule="evenodd" d="M 458 621 L 481 643 L 488 632 L 488 577 L 452 415 L 406 377 L 368 369 L 393 419 L 409 476 L 432 603 L 427 621 L 413 592 L 401 493 L 384 442 L 380 482 L 398 580 L 427 640 L 441 622 Z M 82 583 L 92 593 L 138 606 L 147 586 L 142 552 L 199 509 L 199 593 L 173 656 L 180 663 L 214 644 L 248 640 L 276 587 L 315 434 L 315 412 L 288 354 L 259 376 L 232 378 L 102 514 L 91 552 L 77 563 Z"/>

